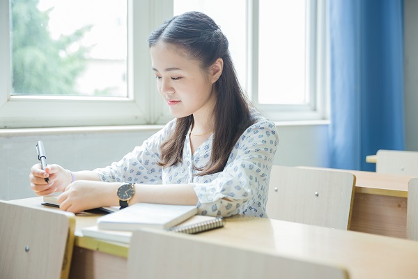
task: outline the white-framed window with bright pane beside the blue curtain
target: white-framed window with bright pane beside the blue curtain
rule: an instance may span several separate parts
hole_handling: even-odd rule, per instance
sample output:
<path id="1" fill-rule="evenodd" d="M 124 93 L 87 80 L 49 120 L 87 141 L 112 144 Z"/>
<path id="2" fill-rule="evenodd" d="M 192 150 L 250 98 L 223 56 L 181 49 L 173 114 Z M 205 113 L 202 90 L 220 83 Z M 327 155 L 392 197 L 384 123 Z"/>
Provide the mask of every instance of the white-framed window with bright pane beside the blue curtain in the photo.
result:
<path id="1" fill-rule="evenodd" d="M 325 119 L 325 1 L 251 5 L 253 103 L 274 120 Z"/>

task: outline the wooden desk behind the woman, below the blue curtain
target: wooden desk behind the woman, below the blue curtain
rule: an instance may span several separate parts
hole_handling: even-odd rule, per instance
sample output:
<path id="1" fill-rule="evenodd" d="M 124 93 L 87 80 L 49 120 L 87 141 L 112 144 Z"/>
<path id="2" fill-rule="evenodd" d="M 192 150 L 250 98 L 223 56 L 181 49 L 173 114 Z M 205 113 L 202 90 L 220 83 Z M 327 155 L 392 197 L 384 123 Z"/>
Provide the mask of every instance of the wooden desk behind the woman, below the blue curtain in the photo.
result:
<path id="1" fill-rule="evenodd" d="M 350 172 L 356 176 L 350 230 L 406 238 L 408 182 L 415 176 L 330 170 Z"/>

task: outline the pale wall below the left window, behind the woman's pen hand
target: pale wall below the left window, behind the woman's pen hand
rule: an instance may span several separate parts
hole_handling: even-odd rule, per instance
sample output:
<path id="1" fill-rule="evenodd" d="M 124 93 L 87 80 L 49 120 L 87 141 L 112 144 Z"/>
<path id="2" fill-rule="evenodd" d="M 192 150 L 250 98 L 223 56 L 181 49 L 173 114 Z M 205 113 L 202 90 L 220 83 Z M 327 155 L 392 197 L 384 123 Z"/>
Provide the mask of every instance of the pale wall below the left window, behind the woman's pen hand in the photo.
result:
<path id="1" fill-rule="evenodd" d="M 151 131 L 67 133 L 29 133 L 1 136 L 0 130 L 0 199 L 33 197 L 29 186 L 31 166 L 38 163 L 36 143 L 45 145 L 47 162 L 67 169 L 105 167 L 119 160 L 135 144 L 141 144 Z"/>

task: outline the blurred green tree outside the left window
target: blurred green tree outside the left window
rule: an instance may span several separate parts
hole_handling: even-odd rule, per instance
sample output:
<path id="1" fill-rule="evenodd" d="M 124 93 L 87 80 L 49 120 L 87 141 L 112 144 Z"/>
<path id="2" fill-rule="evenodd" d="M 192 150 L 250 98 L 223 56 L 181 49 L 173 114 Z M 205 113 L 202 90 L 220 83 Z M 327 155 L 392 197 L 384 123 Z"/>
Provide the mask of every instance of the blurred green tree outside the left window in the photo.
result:
<path id="1" fill-rule="evenodd" d="M 80 43 L 91 26 L 54 40 L 47 29 L 49 13 L 39 0 L 11 1 L 12 92 L 77 95 L 75 80 L 86 68 L 88 47 Z"/>

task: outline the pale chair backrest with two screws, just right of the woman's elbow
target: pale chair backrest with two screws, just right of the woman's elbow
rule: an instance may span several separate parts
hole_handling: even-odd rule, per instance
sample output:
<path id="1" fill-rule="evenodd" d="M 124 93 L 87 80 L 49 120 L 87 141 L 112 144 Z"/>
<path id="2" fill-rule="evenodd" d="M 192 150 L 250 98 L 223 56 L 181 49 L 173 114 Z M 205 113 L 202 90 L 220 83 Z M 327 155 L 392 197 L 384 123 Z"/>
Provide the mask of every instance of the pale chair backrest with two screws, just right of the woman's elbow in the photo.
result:
<path id="1" fill-rule="evenodd" d="M 354 193 L 354 174 L 273 165 L 267 215 L 272 219 L 349 229 Z"/>

